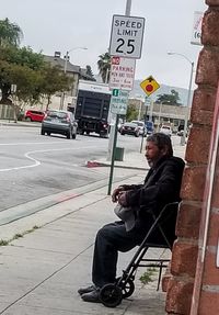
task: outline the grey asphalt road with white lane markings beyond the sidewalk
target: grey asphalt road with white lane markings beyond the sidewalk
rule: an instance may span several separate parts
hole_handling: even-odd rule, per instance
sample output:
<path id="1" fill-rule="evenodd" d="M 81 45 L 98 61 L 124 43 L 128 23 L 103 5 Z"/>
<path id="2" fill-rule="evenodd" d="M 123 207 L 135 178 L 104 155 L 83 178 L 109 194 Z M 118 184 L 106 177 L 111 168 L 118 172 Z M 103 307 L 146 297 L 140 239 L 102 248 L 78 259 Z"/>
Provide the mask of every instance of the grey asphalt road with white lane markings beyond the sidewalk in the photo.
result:
<path id="1" fill-rule="evenodd" d="M 141 138 L 118 135 L 117 146 L 139 150 Z M 42 136 L 36 127 L 0 126 L 0 211 L 108 178 L 108 168 L 89 169 L 106 157 L 108 139 Z"/>

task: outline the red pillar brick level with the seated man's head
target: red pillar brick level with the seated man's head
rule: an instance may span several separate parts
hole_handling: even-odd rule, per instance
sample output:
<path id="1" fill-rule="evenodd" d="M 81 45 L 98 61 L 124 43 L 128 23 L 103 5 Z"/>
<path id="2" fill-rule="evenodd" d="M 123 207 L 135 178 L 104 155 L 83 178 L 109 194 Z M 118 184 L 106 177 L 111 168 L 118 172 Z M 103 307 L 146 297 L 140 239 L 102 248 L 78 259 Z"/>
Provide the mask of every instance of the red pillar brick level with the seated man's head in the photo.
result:
<path id="1" fill-rule="evenodd" d="M 186 148 L 185 159 L 187 162 L 207 164 L 210 144 L 211 128 L 206 126 L 193 126 L 189 142 Z"/>

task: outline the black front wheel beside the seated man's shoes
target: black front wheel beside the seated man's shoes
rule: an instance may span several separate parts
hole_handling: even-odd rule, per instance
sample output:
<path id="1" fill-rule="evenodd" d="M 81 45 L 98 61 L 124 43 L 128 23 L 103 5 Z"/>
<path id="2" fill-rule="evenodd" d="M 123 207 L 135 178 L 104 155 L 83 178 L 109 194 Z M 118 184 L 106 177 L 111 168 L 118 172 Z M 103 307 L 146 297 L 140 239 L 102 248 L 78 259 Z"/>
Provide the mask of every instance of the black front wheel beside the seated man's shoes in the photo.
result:
<path id="1" fill-rule="evenodd" d="M 123 300 L 120 288 L 113 283 L 105 284 L 100 291 L 100 300 L 107 307 L 116 307 Z"/>

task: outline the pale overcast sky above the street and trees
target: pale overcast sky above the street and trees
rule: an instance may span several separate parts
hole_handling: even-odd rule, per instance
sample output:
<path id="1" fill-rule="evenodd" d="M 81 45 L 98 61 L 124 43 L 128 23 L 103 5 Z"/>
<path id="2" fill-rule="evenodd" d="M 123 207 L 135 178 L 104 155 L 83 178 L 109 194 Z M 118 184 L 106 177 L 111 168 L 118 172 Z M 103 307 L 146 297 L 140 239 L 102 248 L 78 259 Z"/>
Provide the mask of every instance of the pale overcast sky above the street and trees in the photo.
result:
<path id="1" fill-rule="evenodd" d="M 99 55 L 107 50 L 113 14 L 125 14 L 126 0 L 7 0 L 1 1 L 0 19 L 9 18 L 24 33 L 22 45 L 54 55 L 73 49 L 72 64 L 90 65 L 97 74 Z M 131 15 L 146 19 L 141 59 L 136 79 L 152 75 L 159 83 L 188 87 L 191 65 L 201 46 L 192 45 L 194 12 L 205 12 L 205 0 L 132 0 Z"/>

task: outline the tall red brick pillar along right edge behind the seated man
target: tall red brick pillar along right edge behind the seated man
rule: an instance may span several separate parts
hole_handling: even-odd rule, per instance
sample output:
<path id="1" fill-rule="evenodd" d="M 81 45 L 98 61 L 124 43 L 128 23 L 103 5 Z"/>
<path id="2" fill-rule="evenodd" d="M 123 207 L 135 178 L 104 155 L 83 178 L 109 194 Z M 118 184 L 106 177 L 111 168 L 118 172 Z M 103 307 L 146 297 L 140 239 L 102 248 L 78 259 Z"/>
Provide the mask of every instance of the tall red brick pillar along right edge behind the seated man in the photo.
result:
<path id="1" fill-rule="evenodd" d="M 196 71 L 198 88 L 194 93 L 192 105 L 193 127 L 186 148 L 186 169 L 181 192 L 183 202 L 176 225 L 177 240 L 173 247 L 172 275 L 168 283 L 165 306 L 169 314 L 219 314 L 219 269 L 216 269 L 214 261 L 219 237 L 218 177 L 215 182 L 214 207 L 210 213 L 207 243 L 209 247 L 207 247 L 206 261 L 203 266 L 200 290 L 197 285 L 201 269 L 197 259 L 200 252 L 198 244 L 203 238 L 200 225 L 205 217 L 203 196 L 219 80 L 219 0 L 206 0 L 206 4 L 209 5 L 209 9 L 205 12 L 203 22 L 204 47 L 199 54 Z M 193 305 L 194 299 L 197 305 Z"/>

